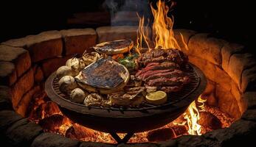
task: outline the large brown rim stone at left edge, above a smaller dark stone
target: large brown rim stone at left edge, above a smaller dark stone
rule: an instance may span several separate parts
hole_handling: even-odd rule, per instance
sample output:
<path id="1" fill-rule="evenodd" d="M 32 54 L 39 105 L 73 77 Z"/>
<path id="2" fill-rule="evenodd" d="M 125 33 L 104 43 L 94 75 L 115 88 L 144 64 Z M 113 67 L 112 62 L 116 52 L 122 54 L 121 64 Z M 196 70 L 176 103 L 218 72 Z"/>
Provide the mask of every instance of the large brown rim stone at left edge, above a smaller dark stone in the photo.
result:
<path id="1" fill-rule="evenodd" d="M 31 66 L 29 52 L 12 46 L 0 45 L 0 61 L 13 62 L 17 76 L 21 76 Z"/>

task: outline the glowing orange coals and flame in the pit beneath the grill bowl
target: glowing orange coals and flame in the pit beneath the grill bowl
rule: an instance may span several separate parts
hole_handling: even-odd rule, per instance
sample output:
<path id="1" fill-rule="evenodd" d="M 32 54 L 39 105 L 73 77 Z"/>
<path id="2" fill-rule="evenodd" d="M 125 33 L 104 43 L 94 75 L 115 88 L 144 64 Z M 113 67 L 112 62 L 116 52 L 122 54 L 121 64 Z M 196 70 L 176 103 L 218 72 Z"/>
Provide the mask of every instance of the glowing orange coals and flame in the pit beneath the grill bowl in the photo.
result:
<path id="1" fill-rule="evenodd" d="M 60 112 L 57 104 L 49 101 L 49 98 L 47 98 L 44 92 L 35 94 L 33 100 L 29 112 L 29 119 L 30 121 L 39 123 L 43 127 L 44 132 L 55 132 L 75 140 L 117 143 L 108 133 L 98 132 L 70 121 L 69 118 L 66 118 Z M 184 115 L 179 116 L 175 121 L 159 129 L 136 133 L 128 143 L 156 142 L 173 139 L 181 135 L 201 135 L 211 131 L 212 129 L 202 127 L 198 124 L 200 112 L 208 112 L 214 115 L 215 118 L 221 121 L 222 128 L 230 126 L 234 119 L 230 118 L 229 115 L 221 110 L 218 110 L 218 108 L 207 106 L 204 104 L 205 101 L 199 97 L 197 101 L 193 101 L 190 104 Z M 125 134 L 121 133 L 118 135 L 121 138 L 125 136 Z M 162 138 L 163 135 L 165 135 L 165 138 Z"/>

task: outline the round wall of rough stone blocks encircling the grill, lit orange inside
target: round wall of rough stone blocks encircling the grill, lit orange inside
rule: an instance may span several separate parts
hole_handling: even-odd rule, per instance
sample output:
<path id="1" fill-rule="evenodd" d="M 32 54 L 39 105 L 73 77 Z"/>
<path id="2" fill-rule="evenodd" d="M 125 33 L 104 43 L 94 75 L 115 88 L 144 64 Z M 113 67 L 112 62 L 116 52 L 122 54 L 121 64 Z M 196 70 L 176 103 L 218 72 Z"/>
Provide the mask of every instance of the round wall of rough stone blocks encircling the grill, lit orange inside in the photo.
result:
<path id="1" fill-rule="evenodd" d="M 42 32 L 0 45 L 0 140 L 7 146 L 116 146 L 91 143 L 43 132 L 27 120 L 32 96 L 45 79 L 73 54 L 108 40 L 131 38 L 136 26 L 105 26 Z M 207 104 L 235 118 L 229 128 L 201 136 L 182 136 L 161 143 L 118 146 L 253 146 L 256 137 L 256 61 L 244 46 L 208 34 L 176 29 L 181 50 L 207 76 Z M 183 35 L 184 40 L 181 39 Z M 185 45 L 184 45 L 185 43 Z"/>

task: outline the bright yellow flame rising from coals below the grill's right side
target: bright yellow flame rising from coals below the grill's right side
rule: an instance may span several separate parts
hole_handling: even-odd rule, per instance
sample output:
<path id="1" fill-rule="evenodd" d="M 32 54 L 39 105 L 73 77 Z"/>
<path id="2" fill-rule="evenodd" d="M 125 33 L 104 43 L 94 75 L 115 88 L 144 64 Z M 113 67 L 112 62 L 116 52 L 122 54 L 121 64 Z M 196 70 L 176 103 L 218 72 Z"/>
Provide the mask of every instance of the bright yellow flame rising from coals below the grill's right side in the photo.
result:
<path id="1" fill-rule="evenodd" d="M 184 113 L 184 118 L 187 120 L 188 126 L 187 132 L 190 135 L 201 135 L 201 125 L 198 124 L 200 119 L 199 111 L 204 111 L 204 102 L 207 100 L 204 100 L 199 96 L 197 101 L 201 103 L 201 105 L 198 106 L 200 110 L 196 107 L 196 101 L 193 101 L 187 108 L 187 112 Z"/>

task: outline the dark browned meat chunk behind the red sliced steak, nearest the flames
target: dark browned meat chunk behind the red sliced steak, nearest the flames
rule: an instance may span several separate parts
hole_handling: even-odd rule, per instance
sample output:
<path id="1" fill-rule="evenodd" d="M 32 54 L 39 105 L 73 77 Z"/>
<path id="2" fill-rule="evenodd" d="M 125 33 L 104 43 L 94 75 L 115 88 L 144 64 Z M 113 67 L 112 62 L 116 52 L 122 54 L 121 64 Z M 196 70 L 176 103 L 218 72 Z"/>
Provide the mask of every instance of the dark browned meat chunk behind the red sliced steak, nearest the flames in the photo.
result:
<path id="1" fill-rule="evenodd" d="M 183 54 L 178 49 L 153 49 L 147 51 L 139 57 L 139 63 L 148 65 L 151 62 L 176 62 L 178 65 L 183 66 L 187 63 L 187 55 Z"/>

